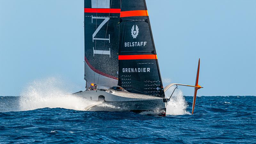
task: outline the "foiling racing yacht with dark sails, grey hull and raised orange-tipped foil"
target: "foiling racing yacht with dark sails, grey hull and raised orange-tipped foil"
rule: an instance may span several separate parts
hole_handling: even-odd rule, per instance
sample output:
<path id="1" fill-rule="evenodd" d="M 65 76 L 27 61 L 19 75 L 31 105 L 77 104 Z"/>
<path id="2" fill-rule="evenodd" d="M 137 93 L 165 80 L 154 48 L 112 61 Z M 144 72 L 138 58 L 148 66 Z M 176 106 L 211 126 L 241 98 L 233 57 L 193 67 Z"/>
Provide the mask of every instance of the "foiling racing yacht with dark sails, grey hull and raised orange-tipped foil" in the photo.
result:
<path id="1" fill-rule="evenodd" d="M 200 62 L 200 59 L 199 59 Z M 153 111 L 165 116 L 163 87 L 145 0 L 84 0 L 85 91 L 88 111 Z M 96 86 L 97 85 L 97 86 Z M 175 89 L 174 89 L 175 90 Z"/>

